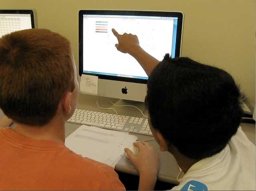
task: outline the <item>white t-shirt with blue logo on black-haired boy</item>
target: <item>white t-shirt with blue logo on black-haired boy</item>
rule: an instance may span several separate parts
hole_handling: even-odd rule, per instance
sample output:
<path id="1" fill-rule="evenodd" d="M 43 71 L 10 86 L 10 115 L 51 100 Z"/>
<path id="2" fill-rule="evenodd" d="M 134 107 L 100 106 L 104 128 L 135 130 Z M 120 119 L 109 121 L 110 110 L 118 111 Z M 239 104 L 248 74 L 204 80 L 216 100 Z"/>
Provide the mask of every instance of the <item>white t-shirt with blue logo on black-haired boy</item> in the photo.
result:
<path id="1" fill-rule="evenodd" d="M 255 145 L 239 127 L 220 153 L 198 161 L 178 181 L 171 190 L 256 190 Z"/>

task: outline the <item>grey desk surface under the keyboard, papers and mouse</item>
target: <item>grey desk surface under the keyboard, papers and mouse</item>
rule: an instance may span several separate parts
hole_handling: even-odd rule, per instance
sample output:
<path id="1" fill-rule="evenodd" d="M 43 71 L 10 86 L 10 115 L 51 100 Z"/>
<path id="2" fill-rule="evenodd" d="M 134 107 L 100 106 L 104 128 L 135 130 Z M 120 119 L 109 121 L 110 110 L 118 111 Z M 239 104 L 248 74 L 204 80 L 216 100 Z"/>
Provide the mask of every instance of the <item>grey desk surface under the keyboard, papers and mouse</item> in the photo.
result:
<path id="1" fill-rule="evenodd" d="M 114 99 L 114 98 L 105 98 L 105 97 L 99 97 L 99 96 L 80 94 L 77 109 L 86 109 L 91 111 L 114 113 L 112 109 L 103 110 L 97 107 L 97 104 L 96 104 L 97 100 L 99 102 L 100 107 L 104 107 L 104 108 L 110 107 L 112 104 L 107 99 L 110 99 L 113 103 L 118 101 L 118 99 Z M 114 108 L 117 109 L 119 115 L 141 117 L 141 113 L 139 112 L 139 110 L 133 107 L 114 107 Z M 143 109 L 143 108 L 140 108 L 140 109 Z M 145 111 L 144 114 L 147 116 L 148 115 L 147 111 Z M 74 124 L 74 123 L 66 123 L 66 137 L 69 136 L 73 131 L 75 131 L 80 126 L 81 125 Z M 243 131 L 246 133 L 247 137 L 250 139 L 250 141 L 252 141 L 252 143 L 254 143 L 255 145 L 255 124 L 242 123 L 241 127 Z M 136 135 L 141 141 L 153 138 L 152 136 L 148 136 L 148 135 L 140 135 L 135 133 L 130 133 L 130 134 Z M 177 161 L 175 160 L 173 155 L 171 155 L 171 153 L 169 152 L 160 152 L 159 146 L 157 145 L 155 140 L 149 141 L 149 143 L 153 145 L 153 147 L 159 153 L 160 168 L 159 168 L 159 174 L 157 177 L 158 180 L 172 183 L 172 184 L 178 184 L 176 177 L 179 173 L 179 168 L 177 166 Z M 119 160 L 119 162 L 115 166 L 115 170 L 121 171 L 124 173 L 133 174 L 133 175 L 138 175 L 137 170 L 125 155 Z"/>

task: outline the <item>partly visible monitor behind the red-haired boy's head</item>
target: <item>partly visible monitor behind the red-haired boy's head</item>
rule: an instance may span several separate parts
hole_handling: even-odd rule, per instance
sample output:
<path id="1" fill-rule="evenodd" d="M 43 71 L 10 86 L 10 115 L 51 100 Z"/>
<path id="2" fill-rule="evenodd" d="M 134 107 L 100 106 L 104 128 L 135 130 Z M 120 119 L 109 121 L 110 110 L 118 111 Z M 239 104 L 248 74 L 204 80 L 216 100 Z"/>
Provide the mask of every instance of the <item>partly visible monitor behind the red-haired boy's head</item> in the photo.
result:
<path id="1" fill-rule="evenodd" d="M 11 32 L 34 28 L 32 10 L 0 10 L 0 38 Z"/>

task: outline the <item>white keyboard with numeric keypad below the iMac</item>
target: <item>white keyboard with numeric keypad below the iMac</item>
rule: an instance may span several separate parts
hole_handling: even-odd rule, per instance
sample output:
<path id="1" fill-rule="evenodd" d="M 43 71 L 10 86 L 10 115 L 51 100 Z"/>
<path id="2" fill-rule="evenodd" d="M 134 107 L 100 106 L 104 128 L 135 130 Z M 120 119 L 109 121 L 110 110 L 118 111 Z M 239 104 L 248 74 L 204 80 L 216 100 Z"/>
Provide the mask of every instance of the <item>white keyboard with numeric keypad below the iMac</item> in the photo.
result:
<path id="1" fill-rule="evenodd" d="M 146 118 L 76 109 L 68 122 L 153 136 Z"/>

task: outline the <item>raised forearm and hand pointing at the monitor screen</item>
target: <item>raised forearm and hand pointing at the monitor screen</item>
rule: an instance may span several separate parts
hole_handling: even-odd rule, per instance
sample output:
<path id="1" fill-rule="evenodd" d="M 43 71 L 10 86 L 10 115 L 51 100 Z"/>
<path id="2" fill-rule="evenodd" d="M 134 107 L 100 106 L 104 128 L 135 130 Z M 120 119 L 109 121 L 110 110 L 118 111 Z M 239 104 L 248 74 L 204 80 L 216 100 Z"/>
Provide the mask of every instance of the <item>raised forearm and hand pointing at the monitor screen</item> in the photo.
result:
<path id="1" fill-rule="evenodd" d="M 139 40 L 136 35 L 127 33 L 120 35 L 115 29 L 112 29 L 112 32 L 118 40 L 118 44 L 115 44 L 117 50 L 133 56 L 145 70 L 147 76 L 150 76 L 153 69 L 159 64 L 159 61 L 139 46 Z"/>

